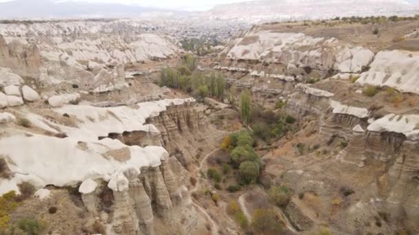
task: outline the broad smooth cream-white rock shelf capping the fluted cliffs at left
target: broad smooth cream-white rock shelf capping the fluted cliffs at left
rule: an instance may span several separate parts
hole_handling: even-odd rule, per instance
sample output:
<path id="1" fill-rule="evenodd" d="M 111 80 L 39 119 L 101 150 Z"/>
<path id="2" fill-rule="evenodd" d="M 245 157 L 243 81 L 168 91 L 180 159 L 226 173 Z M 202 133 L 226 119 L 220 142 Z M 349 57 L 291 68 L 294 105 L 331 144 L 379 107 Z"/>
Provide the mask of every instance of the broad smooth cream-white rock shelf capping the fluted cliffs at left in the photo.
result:
<path id="1" fill-rule="evenodd" d="M 0 155 L 8 155 L 14 164 L 9 168 L 12 172 L 19 172 L 7 183 L 1 181 L 0 194 L 16 190 L 17 183 L 24 177 L 39 188 L 46 185 L 74 186 L 77 182 L 86 179 L 103 179 L 110 181 L 110 186 L 123 187 L 119 172 L 132 167 L 156 167 L 161 164 L 161 159 L 167 159 L 168 153 L 161 146 L 126 146 L 117 139 L 101 139 L 109 133 L 123 133 L 124 131 L 156 131 L 145 125 L 149 117 L 159 115 L 168 106 L 180 105 L 185 102 L 194 102 L 193 99 L 160 100 L 144 102 L 137 105 L 136 109 L 130 107 L 98 108 L 85 105 L 68 105 L 55 109 L 61 115 L 68 113 L 76 116 L 78 127 L 59 126 L 68 137 L 60 139 L 45 135 L 17 133 L 0 138 Z M 50 120 L 44 122 L 52 124 Z M 57 123 L 54 123 L 57 125 Z M 34 124 L 36 125 L 36 124 Z M 84 143 L 84 144 L 83 144 Z M 25 146 L 25 148 L 21 148 Z M 43 146 L 39 148 L 39 146 Z M 116 161 L 118 155 L 109 156 L 110 150 L 127 148 L 129 154 L 123 161 Z M 50 166 L 54 166 L 51 168 Z M 74 170 L 77 169 L 76 174 Z M 116 180 L 117 179 L 117 180 Z M 113 182 L 116 182 L 113 184 Z M 87 186 L 91 186 L 90 183 Z M 91 187 L 87 187 L 91 189 Z M 114 188 L 114 187 L 113 187 Z"/>

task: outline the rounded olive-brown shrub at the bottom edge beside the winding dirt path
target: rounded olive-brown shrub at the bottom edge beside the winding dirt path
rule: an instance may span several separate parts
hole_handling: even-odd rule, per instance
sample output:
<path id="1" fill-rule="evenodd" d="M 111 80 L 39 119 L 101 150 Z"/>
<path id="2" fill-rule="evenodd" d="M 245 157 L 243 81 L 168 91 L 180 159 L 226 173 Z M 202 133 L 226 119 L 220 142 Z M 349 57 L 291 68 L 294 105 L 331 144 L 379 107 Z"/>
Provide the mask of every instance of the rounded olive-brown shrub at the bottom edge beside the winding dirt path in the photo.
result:
<path id="1" fill-rule="evenodd" d="M 252 228 L 260 234 L 280 234 L 282 225 L 273 210 L 258 209 L 252 218 Z"/>

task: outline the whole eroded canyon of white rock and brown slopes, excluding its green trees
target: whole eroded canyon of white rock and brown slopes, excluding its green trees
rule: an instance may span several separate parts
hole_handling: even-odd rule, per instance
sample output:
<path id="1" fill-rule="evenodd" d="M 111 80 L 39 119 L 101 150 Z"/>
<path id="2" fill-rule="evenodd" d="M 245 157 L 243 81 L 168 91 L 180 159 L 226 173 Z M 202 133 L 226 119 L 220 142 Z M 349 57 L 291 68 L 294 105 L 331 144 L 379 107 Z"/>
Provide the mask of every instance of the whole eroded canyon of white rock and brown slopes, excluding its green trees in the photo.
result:
<path id="1" fill-rule="evenodd" d="M 1 218 L 32 216 L 39 234 L 245 234 L 267 207 L 280 234 L 418 233 L 418 19 L 307 22 L 254 25 L 197 56 L 223 76 L 221 99 L 161 85 L 190 54 L 139 21 L 0 23 L 0 194 L 34 188 Z M 287 131 L 259 137 L 235 90 Z M 230 191 L 240 171 L 209 172 L 243 130 L 263 164 Z M 269 201 L 276 186 L 286 205 Z"/>

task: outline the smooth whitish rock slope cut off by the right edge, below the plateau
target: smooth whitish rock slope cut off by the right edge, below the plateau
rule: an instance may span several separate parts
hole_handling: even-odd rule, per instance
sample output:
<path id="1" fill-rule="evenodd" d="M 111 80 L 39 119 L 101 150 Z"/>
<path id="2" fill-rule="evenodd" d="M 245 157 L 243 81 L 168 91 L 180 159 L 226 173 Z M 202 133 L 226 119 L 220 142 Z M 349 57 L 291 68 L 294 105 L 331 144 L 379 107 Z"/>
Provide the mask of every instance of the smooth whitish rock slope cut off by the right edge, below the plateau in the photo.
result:
<path id="1" fill-rule="evenodd" d="M 356 82 L 419 93 L 419 52 L 378 52 L 369 71 L 362 73 Z"/>

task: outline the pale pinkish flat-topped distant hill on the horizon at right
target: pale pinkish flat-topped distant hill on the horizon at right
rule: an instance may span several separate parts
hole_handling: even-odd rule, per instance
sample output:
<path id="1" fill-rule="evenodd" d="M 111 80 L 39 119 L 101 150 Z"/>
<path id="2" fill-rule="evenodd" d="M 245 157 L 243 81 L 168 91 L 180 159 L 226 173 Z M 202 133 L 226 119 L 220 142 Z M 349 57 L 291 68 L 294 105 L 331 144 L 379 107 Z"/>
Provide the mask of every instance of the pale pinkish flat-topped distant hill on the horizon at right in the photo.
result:
<path id="1" fill-rule="evenodd" d="M 244 21 L 294 21 L 395 14 L 419 14 L 419 7 L 404 0 L 263 0 L 217 5 L 202 13 L 210 18 Z"/>

